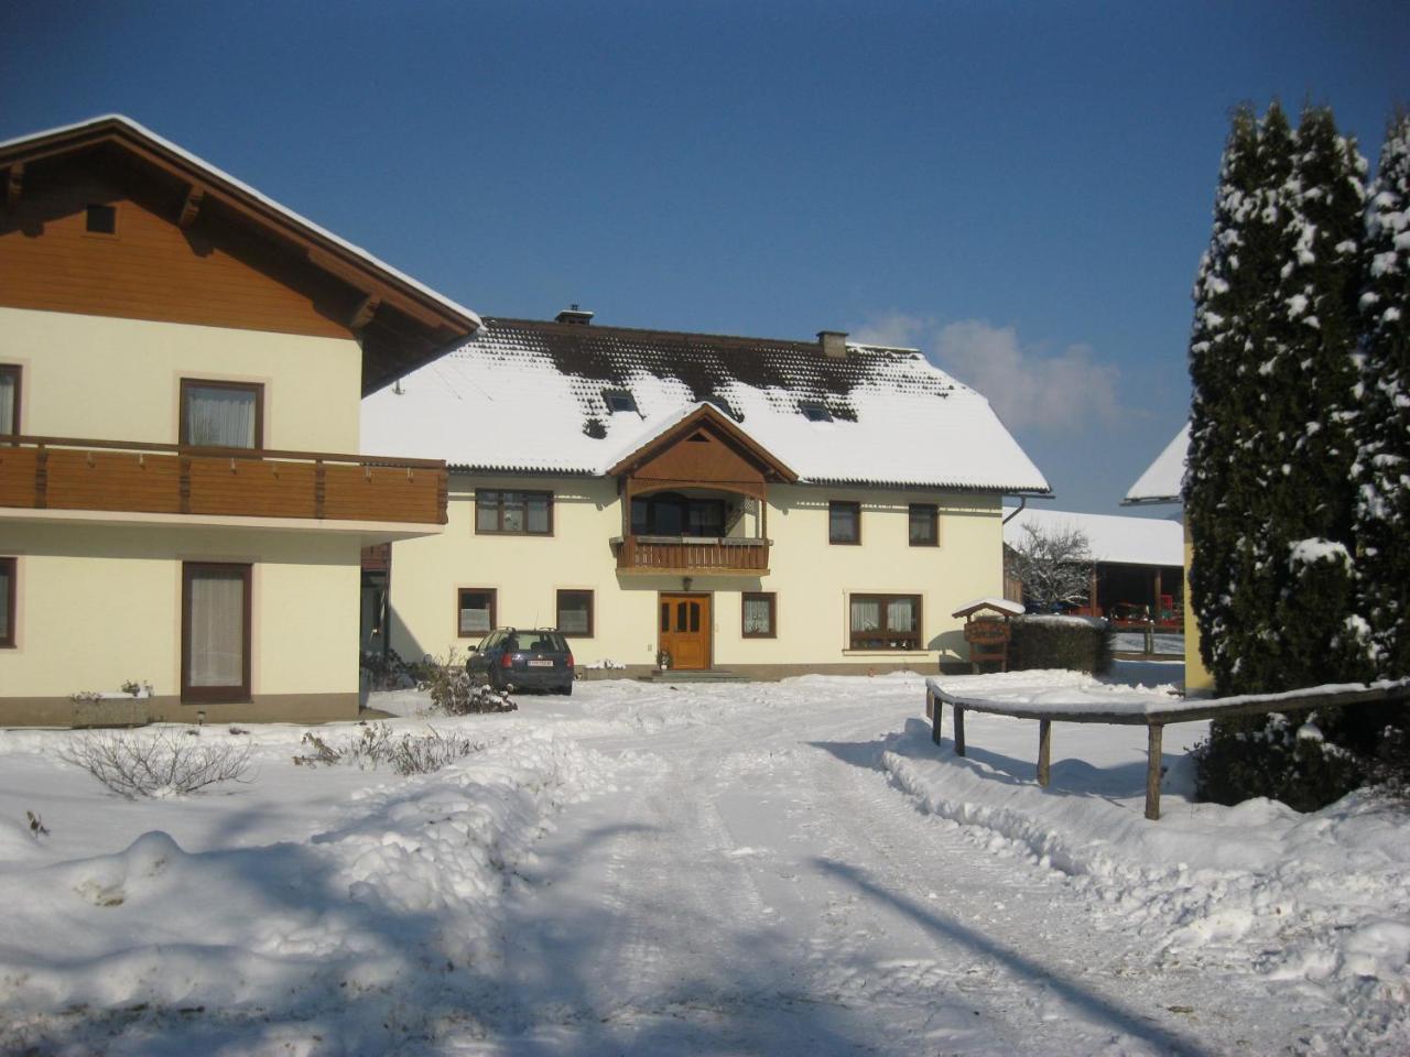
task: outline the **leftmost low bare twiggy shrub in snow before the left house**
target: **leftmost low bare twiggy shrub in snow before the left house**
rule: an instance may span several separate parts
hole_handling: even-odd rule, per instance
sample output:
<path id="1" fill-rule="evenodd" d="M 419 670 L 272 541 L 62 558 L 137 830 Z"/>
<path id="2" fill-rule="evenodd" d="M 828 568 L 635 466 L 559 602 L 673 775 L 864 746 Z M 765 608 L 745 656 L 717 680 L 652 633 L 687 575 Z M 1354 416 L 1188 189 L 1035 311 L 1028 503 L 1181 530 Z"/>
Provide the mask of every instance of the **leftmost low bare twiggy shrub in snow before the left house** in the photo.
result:
<path id="1" fill-rule="evenodd" d="M 113 792 L 141 796 L 190 793 L 219 782 L 245 782 L 250 743 L 209 744 L 175 730 L 80 734 L 59 758 L 82 767 Z"/>

